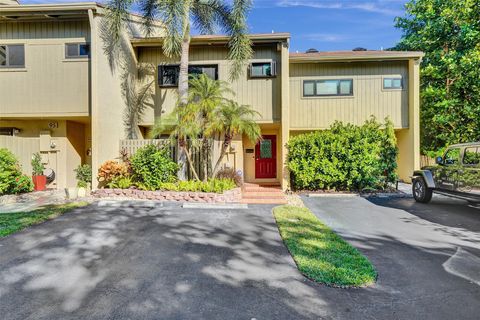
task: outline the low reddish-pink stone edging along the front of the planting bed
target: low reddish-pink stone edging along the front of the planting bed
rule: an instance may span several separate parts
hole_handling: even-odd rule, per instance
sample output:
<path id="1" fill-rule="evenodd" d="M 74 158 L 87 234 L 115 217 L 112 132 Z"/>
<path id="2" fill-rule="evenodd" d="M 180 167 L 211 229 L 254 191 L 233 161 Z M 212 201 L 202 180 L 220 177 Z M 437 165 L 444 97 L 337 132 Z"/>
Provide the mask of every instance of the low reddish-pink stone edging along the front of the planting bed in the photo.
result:
<path id="1" fill-rule="evenodd" d="M 213 192 L 181 192 L 181 191 L 145 191 L 137 189 L 98 189 L 92 192 L 95 198 L 132 198 L 157 201 L 234 203 L 242 199 L 240 188 Z"/>

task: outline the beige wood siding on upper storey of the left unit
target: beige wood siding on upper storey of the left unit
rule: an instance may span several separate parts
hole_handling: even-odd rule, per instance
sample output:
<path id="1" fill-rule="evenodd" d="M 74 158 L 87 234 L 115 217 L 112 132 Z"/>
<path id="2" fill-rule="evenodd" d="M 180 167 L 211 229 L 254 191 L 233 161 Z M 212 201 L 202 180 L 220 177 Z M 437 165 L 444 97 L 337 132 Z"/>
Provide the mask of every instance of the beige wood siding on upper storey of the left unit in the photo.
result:
<path id="1" fill-rule="evenodd" d="M 89 59 L 65 43 L 89 38 L 88 21 L 0 23 L 0 44 L 25 45 L 25 68 L 0 68 L 0 116 L 88 115 Z"/>

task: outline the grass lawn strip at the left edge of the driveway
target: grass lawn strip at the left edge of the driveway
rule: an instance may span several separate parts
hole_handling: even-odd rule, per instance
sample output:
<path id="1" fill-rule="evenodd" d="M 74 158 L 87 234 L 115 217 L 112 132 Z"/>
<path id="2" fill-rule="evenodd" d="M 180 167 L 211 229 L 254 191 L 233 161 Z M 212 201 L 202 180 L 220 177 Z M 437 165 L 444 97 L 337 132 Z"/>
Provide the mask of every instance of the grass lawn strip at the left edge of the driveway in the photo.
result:
<path id="1" fill-rule="evenodd" d="M 0 214 L 0 237 L 25 229 L 31 225 L 54 219 L 67 211 L 86 206 L 87 202 L 72 202 L 61 205 L 49 205 L 28 212 Z"/>

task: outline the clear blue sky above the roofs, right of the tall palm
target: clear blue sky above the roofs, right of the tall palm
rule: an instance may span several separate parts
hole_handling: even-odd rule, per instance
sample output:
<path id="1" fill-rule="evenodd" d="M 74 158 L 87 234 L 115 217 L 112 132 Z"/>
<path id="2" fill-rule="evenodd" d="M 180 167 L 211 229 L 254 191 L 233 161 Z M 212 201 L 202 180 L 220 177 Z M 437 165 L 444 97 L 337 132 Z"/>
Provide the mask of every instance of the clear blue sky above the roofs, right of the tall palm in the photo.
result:
<path id="1" fill-rule="evenodd" d="M 82 0 L 20 0 L 63 3 Z M 98 1 L 98 0 L 97 0 Z M 102 2 L 102 1 L 100 1 Z M 291 52 L 363 47 L 387 49 L 400 39 L 394 27 L 407 0 L 253 0 L 248 16 L 251 33 L 290 32 Z"/>

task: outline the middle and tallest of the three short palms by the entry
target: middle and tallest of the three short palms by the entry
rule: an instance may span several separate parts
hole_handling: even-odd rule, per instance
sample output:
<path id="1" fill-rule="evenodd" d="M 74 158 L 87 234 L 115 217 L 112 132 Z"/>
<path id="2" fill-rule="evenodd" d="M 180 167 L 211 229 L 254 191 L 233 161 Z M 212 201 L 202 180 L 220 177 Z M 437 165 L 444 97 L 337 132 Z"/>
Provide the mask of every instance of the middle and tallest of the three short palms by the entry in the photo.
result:
<path id="1" fill-rule="evenodd" d="M 202 132 L 201 150 L 204 181 L 208 178 L 209 141 L 213 138 L 208 134 L 208 127 L 214 121 L 216 110 L 227 102 L 225 99 L 227 94 L 233 95 L 234 93 L 225 81 L 213 80 L 206 74 L 193 77 L 189 81 L 188 104 L 198 112 Z"/>

